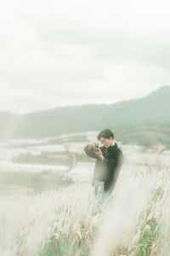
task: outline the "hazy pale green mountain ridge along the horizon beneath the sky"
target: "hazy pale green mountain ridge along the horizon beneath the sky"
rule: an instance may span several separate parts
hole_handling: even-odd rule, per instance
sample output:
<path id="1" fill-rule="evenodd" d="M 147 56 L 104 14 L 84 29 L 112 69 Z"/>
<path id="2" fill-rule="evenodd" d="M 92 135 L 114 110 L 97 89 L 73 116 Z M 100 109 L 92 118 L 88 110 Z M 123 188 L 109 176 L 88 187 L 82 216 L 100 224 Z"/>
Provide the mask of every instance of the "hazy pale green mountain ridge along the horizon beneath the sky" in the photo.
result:
<path id="1" fill-rule="evenodd" d="M 62 133 L 99 131 L 147 125 L 170 125 L 170 86 L 143 98 L 110 105 L 58 107 L 16 115 L 0 113 L 0 137 L 49 137 Z"/>

